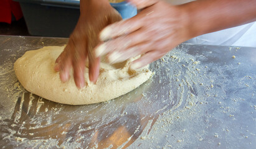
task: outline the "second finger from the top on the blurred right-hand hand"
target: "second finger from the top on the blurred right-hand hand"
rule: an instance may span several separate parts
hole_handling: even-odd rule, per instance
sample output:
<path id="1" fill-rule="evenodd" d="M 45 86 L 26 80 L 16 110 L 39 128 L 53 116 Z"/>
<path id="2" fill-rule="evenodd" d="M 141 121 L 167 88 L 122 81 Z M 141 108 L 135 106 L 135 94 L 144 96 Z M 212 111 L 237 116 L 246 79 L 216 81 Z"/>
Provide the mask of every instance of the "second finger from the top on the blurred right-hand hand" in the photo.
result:
<path id="1" fill-rule="evenodd" d="M 143 32 L 143 29 L 136 30 L 131 34 L 127 34 L 125 36 L 121 36 L 98 45 L 95 48 L 95 55 L 99 57 L 113 51 L 123 52 L 127 48 L 133 47 L 134 45 L 147 42 L 149 38 L 145 37 L 146 33 Z"/>

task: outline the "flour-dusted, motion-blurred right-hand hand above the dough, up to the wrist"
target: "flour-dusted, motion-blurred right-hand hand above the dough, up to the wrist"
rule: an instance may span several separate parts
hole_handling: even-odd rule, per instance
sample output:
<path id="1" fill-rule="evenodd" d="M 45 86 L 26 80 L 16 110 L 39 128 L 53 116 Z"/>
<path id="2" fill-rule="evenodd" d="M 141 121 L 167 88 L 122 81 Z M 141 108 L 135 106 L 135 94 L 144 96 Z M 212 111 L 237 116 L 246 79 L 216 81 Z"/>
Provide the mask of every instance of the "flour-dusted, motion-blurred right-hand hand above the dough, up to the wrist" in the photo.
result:
<path id="1" fill-rule="evenodd" d="M 142 55 L 131 65 L 131 69 L 137 69 L 158 60 L 190 38 L 186 13 L 179 6 L 163 1 L 130 1 L 145 9 L 131 19 L 105 27 L 100 40 L 107 41 L 97 46 L 97 56 L 107 55 L 110 63 L 118 63 Z"/>

